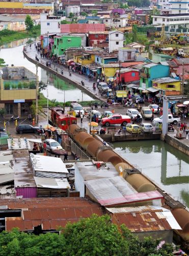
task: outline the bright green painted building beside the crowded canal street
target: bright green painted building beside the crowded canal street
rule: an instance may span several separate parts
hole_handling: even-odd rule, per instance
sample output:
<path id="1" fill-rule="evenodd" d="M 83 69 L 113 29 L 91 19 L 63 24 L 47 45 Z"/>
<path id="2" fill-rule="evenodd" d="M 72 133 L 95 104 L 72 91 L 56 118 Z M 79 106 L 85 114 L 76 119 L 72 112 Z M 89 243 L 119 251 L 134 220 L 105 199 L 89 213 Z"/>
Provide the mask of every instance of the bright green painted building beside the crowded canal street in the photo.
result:
<path id="1" fill-rule="evenodd" d="M 63 35 L 54 38 L 54 45 L 52 47 L 52 53 L 60 56 L 70 47 L 81 47 L 82 37 Z"/>

